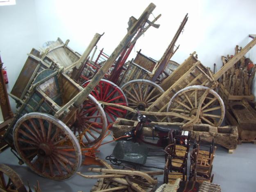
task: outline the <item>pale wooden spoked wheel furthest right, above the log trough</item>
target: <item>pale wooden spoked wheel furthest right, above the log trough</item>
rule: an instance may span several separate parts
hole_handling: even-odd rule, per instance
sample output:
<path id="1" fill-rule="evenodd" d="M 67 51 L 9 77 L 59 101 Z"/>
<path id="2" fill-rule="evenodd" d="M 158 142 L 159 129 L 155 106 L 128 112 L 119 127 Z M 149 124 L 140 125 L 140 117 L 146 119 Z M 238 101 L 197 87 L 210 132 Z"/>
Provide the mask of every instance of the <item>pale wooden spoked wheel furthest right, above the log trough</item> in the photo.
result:
<path id="1" fill-rule="evenodd" d="M 201 96 L 208 92 L 202 105 L 199 106 Z M 199 120 L 202 123 L 212 126 L 220 126 L 224 119 L 225 107 L 220 95 L 214 90 L 205 86 L 188 86 L 178 91 L 170 100 L 167 112 L 175 112 L 187 117 L 195 117 L 197 109 L 199 111 Z M 169 122 L 188 122 L 188 119 L 178 117 L 168 117 Z"/>

